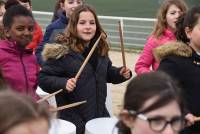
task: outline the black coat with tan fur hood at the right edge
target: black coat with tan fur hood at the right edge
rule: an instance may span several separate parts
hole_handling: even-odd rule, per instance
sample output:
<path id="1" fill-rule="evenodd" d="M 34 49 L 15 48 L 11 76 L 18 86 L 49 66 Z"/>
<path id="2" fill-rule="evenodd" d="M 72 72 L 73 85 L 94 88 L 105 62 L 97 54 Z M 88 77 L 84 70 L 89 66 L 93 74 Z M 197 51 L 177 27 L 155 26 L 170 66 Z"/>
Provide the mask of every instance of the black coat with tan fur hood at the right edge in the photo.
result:
<path id="1" fill-rule="evenodd" d="M 178 80 L 189 112 L 200 116 L 200 55 L 183 43 L 172 43 L 156 51 L 161 60 L 158 70 Z M 200 134 L 200 123 L 185 131 L 186 134 Z"/>

